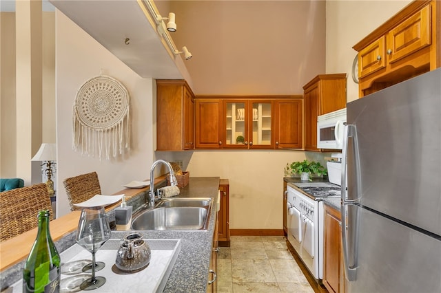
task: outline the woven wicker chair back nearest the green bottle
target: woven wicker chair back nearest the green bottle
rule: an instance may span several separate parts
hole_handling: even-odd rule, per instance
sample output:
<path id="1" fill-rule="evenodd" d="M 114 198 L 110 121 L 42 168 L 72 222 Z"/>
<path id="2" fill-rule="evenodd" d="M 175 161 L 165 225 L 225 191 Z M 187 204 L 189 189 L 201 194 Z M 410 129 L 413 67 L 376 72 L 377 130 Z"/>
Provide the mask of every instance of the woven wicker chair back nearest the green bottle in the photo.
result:
<path id="1" fill-rule="evenodd" d="M 50 219 L 54 219 L 48 186 L 44 183 L 1 193 L 0 241 L 36 228 L 39 210 L 49 210 Z"/>

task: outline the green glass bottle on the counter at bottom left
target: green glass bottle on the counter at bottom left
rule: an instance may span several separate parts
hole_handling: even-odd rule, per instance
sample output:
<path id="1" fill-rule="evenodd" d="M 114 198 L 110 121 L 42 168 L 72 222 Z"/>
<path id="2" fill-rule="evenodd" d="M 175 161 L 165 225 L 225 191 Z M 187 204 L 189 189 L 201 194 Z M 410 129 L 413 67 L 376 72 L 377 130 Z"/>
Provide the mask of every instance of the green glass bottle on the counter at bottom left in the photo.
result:
<path id="1" fill-rule="evenodd" d="M 61 261 L 50 237 L 49 215 L 49 210 L 39 211 L 39 232 L 23 268 L 23 292 L 59 292 Z"/>

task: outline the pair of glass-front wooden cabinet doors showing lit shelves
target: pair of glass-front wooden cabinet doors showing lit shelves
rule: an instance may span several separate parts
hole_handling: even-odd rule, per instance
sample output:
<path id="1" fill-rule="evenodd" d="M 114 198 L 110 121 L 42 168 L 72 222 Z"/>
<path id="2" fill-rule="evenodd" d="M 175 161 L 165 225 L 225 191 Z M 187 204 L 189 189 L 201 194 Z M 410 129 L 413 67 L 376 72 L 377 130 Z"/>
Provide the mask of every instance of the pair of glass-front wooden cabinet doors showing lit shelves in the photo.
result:
<path id="1" fill-rule="evenodd" d="M 224 148 L 273 149 L 270 100 L 225 100 Z"/>

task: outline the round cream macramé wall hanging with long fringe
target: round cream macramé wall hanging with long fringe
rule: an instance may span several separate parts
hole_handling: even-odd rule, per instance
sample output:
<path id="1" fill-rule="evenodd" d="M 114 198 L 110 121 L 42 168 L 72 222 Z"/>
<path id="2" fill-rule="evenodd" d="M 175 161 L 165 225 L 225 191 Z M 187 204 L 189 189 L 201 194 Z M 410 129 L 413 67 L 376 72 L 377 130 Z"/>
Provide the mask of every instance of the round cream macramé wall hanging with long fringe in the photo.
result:
<path id="1" fill-rule="evenodd" d="M 72 147 L 81 154 L 101 160 L 115 158 L 130 149 L 129 94 L 124 85 L 110 76 L 86 81 L 76 93 L 73 109 Z"/>

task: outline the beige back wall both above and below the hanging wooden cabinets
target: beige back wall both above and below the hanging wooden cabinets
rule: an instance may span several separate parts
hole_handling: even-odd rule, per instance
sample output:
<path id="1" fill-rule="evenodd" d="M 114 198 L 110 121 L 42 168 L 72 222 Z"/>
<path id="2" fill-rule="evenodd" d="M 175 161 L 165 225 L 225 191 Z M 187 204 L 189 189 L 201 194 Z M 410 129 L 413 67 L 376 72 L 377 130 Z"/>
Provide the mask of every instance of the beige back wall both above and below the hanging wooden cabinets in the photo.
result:
<path id="1" fill-rule="evenodd" d="M 176 12 L 178 47 L 197 95 L 302 94 L 325 72 L 324 1 L 163 1 Z M 191 45 L 189 45 L 191 44 Z M 157 153 L 183 160 L 190 176 L 229 179 L 230 228 L 281 229 L 283 169 L 304 151 Z M 246 211 L 246 212 L 245 212 Z"/>

